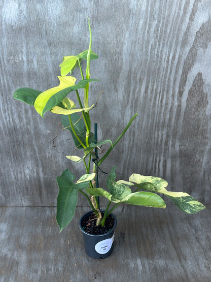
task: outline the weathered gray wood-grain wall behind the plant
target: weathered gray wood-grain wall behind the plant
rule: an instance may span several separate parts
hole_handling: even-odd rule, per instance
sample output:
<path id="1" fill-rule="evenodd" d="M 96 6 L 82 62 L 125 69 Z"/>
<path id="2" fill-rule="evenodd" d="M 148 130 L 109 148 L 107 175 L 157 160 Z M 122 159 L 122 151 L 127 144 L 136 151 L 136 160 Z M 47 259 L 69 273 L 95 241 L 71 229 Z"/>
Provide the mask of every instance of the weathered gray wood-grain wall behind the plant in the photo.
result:
<path id="1" fill-rule="evenodd" d="M 59 116 L 41 118 L 12 93 L 58 85 L 64 55 L 88 48 L 93 31 L 91 114 L 99 139 L 113 141 L 138 116 L 103 170 L 156 175 L 169 188 L 210 203 L 211 4 L 208 0 L 2 1 L 0 205 L 56 204 L 55 177 L 80 164 L 65 158 L 72 140 Z M 79 78 L 78 78 L 79 79 Z M 84 204 L 80 201 L 80 204 Z"/>

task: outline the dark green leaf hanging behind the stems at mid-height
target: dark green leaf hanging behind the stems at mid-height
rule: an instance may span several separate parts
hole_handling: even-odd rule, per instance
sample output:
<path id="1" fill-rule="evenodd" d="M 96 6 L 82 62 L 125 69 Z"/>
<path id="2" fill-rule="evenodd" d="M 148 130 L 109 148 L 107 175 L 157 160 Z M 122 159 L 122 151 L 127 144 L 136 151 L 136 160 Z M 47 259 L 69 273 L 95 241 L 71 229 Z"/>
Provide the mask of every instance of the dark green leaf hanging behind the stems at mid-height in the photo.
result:
<path id="1" fill-rule="evenodd" d="M 81 140 L 80 143 L 79 143 L 78 139 L 75 137 L 75 135 L 74 135 L 74 133 L 71 129 L 71 123 L 69 122 L 69 116 L 61 115 L 61 123 L 62 123 L 63 127 L 71 132 L 76 147 L 79 148 L 79 149 L 83 149 L 83 146 L 81 145 L 81 143 L 86 145 L 86 127 L 85 127 L 85 124 L 84 124 L 82 118 L 80 118 L 80 116 L 77 113 L 72 114 L 71 119 L 72 119 L 72 122 L 73 122 L 73 127 L 75 129 L 75 132 L 78 135 L 79 139 Z M 89 135 L 89 143 L 94 143 L 94 134 L 92 132 L 90 132 L 90 135 Z"/>

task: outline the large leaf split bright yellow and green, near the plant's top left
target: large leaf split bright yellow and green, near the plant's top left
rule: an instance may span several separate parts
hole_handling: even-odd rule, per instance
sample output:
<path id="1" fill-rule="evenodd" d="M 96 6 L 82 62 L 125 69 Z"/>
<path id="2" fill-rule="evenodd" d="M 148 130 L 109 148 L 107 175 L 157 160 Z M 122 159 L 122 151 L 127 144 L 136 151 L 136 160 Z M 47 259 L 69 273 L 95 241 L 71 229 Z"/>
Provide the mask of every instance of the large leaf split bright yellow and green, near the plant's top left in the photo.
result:
<path id="1" fill-rule="evenodd" d="M 84 79 L 75 84 L 76 78 L 72 76 L 58 76 L 60 84 L 42 92 L 36 101 L 34 107 L 37 112 L 43 117 L 44 113 L 57 106 L 69 92 L 76 89 L 84 88 L 88 82 L 97 81 L 96 79 Z"/>

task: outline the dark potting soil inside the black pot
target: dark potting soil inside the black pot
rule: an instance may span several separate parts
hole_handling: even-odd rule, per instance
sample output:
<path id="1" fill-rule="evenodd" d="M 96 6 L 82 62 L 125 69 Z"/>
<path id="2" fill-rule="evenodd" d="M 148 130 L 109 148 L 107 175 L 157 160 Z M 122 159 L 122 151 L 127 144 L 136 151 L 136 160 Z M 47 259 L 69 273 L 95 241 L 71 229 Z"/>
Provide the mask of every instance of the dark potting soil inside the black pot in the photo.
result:
<path id="1" fill-rule="evenodd" d="M 101 213 L 103 216 L 103 213 Z M 94 235 L 101 235 L 104 233 L 109 232 L 115 223 L 114 217 L 109 214 L 109 216 L 105 220 L 104 226 L 98 225 L 96 226 L 97 217 L 96 214 L 93 212 L 90 215 L 87 215 L 81 221 L 81 226 L 84 231 Z"/>

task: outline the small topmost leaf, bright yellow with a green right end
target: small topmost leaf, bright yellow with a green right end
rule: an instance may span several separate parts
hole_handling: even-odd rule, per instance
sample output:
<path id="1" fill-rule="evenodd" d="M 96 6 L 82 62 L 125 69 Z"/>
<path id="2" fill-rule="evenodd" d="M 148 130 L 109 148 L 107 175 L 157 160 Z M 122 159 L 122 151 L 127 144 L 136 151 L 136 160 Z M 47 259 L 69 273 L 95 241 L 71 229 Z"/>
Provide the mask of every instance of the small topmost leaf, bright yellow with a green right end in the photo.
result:
<path id="1" fill-rule="evenodd" d="M 87 53 L 88 53 L 88 50 L 80 53 L 77 56 L 65 56 L 65 57 L 63 57 L 63 61 L 59 65 L 59 67 L 61 67 L 61 76 L 65 76 L 68 73 L 72 73 L 73 70 L 76 69 L 79 66 L 78 59 L 79 60 L 86 59 Z M 98 58 L 97 54 L 95 54 L 94 52 L 91 51 L 90 59 L 93 60 L 93 59 L 97 59 L 97 58 Z"/>

